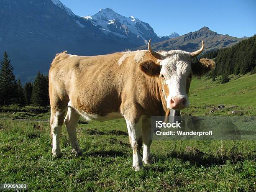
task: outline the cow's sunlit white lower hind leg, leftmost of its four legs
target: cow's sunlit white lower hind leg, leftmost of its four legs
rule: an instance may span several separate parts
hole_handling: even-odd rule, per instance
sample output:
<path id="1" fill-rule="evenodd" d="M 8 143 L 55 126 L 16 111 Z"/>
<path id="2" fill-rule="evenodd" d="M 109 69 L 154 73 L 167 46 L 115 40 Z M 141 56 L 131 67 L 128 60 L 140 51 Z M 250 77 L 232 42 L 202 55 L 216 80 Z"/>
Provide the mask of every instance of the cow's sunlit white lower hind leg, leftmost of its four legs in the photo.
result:
<path id="1" fill-rule="evenodd" d="M 54 157 L 59 157 L 61 155 L 59 146 L 59 136 L 63 120 L 64 110 L 51 110 L 52 154 Z"/>

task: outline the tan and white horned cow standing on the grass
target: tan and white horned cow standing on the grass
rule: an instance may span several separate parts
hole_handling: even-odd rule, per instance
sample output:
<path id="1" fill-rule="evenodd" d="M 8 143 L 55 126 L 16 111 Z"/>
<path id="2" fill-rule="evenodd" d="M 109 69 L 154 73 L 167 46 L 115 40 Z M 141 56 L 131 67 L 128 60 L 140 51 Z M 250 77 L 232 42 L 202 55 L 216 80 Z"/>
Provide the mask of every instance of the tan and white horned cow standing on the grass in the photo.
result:
<path id="1" fill-rule="evenodd" d="M 100 121 L 124 117 L 133 149 L 133 167 L 138 171 L 143 162 L 150 163 L 150 117 L 189 107 L 192 75 L 202 76 L 215 67 L 210 59 L 192 62 L 203 51 L 203 41 L 195 52 L 160 53 L 151 49 L 150 42 L 148 50 L 142 51 L 98 56 L 77 56 L 67 51 L 56 54 L 49 70 L 53 156 L 61 155 L 63 123 L 72 153 L 79 155 L 76 128 L 80 116 Z"/>

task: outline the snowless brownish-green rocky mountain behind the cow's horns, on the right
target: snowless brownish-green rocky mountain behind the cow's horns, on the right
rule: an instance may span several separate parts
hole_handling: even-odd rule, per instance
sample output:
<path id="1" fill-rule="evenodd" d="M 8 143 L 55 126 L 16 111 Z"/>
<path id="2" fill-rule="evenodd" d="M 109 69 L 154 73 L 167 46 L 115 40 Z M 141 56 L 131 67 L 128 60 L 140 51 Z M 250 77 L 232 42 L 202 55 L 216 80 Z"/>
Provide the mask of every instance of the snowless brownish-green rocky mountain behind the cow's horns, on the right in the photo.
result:
<path id="1" fill-rule="evenodd" d="M 152 49 L 165 51 L 173 49 L 195 51 L 202 46 L 202 40 L 204 40 L 204 52 L 207 52 L 232 46 L 239 41 L 242 41 L 243 39 L 244 38 L 218 34 L 214 31 L 211 31 L 208 27 L 203 27 L 195 32 L 190 32 L 176 38 L 154 43 L 152 44 Z M 141 46 L 139 49 L 147 49 L 147 46 Z"/>

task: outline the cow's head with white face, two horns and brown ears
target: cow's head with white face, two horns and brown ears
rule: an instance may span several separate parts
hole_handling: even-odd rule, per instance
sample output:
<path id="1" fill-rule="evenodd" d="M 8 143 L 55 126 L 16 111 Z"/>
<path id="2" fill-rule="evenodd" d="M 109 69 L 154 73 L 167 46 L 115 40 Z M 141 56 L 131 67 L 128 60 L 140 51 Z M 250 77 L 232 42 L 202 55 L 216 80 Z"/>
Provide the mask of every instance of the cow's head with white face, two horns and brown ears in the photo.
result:
<path id="1" fill-rule="evenodd" d="M 199 55 L 204 49 L 189 53 L 186 51 L 163 51 L 161 54 L 153 51 L 148 42 L 148 51 L 159 63 L 146 61 L 140 64 L 141 70 L 150 76 L 160 78 L 167 108 L 183 109 L 189 107 L 189 87 L 192 76 L 200 77 L 214 69 L 215 62 L 210 59 L 200 59 L 193 63 L 191 59 Z"/>

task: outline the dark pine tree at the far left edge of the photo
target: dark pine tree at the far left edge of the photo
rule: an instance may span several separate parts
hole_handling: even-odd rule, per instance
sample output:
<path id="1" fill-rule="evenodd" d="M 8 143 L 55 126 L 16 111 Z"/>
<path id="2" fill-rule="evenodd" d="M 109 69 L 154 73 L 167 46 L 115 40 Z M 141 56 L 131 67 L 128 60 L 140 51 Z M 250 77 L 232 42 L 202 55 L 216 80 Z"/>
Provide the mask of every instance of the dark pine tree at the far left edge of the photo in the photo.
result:
<path id="1" fill-rule="evenodd" d="M 13 74 L 8 54 L 5 51 L 3 61 L 0 63 L 0 104 L 10 105 L 15 102 L 17 81 Z"/>

